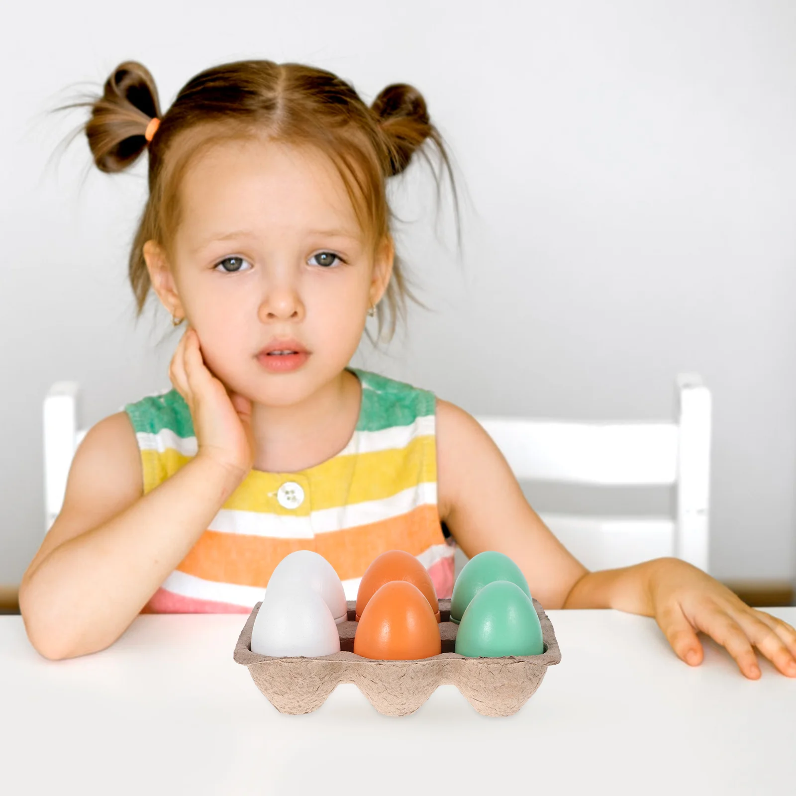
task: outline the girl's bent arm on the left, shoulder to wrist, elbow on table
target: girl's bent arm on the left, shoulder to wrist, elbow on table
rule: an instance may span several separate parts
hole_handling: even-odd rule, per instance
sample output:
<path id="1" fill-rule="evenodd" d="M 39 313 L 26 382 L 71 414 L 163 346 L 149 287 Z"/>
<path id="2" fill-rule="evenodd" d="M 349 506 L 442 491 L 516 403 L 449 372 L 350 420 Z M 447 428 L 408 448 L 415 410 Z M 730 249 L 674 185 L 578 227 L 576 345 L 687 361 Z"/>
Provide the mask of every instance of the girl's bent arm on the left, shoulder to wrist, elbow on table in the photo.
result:
<path id="1" fill-rule="evenodd" d="M 200 454 L 143 495 L 127 415 L 92 427 L 72 460 L 63 508 L 22 578 L 19 607 L 33 646 L 55 660 L 115 642 L 241 478 Z"/>

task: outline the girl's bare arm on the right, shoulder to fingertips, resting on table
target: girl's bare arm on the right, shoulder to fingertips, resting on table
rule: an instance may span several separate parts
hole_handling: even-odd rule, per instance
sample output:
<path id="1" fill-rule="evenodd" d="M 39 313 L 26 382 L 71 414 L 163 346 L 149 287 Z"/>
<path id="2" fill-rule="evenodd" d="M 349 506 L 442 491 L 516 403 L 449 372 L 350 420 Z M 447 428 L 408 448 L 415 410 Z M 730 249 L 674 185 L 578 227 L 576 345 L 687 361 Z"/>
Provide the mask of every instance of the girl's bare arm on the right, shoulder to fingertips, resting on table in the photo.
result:
<path id="1" fill-rule="evenodd" d="M 796 677 L 796 630 L 743 603 L 723 584 L 676 558 L 589 572 L 541 521 L 493 439 L 474 417 L 437 401 L 439 517 L 472 558 L 505 553 L 546 609 L 616 608 L 654 616 L 673 650 L 696 665 L 702 630 L 725 646 L 747 677 L 760 676 L 752 645 Z"/>

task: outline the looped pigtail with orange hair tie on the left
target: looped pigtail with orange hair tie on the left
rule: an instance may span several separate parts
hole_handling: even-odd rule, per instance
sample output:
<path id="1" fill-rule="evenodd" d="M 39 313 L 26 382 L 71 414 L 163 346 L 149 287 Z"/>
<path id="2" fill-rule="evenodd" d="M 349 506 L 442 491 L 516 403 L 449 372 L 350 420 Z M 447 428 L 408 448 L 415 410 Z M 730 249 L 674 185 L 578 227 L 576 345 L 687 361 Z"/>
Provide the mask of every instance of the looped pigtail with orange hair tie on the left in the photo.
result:
<path id="1" fill-rule="evenodd" d="M 150 120 L 160 117 L 149 70 L 137 61 L 119 64 L 91 108 L 85 132 L 96 167 L 111 174 L 127 169 L 149 143 L 144 134 Z"/>

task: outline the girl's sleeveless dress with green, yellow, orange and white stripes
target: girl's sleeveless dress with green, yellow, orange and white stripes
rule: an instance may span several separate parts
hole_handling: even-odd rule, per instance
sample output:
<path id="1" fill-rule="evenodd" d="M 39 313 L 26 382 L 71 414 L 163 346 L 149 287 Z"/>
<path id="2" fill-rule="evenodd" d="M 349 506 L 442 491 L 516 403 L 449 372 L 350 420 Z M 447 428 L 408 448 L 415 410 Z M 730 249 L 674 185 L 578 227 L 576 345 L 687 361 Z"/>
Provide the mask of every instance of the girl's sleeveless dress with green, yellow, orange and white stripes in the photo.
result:
<path id="1" fill-rule="evenodd" d="M 437 596 L 451 597 L 454 546 L 437 512 L 435 396 L 348 370 L 362 398 L 345 448 L 295 473 L 251 470 L 142 613 L 248 613 L 275 566 L 295 550 L 326 558 L 347 599 L 356 599 L 365 570 L 387 550 L 412 553 Z M 176 389 L 123 409 L 139 443 L 146 494 L 197 454 L 193 420 Z"/>

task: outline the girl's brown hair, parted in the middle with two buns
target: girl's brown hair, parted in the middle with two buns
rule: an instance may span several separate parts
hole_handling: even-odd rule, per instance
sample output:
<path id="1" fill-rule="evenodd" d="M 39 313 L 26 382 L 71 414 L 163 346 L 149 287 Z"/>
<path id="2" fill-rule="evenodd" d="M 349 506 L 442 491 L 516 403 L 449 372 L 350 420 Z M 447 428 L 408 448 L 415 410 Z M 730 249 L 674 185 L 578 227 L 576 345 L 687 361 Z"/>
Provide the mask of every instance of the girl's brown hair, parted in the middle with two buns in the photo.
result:
<path id="1" fill-rule="evenodd" d="M 158 89 L 150 72 L 136 61 L 119 64 L 105 82 L 102 96 L 64 106 L 91 107 L 85 130 L 94 162 L 115 173 L 149 150 L 149 197 L 135 233 L 129 277 L 136 318 L 150 290 L 143 244 L 156 240 L 167 250 L 179 223 L 178 186 L 189 162 L 214 143 L 268 135 L 271 139 L 317 147 L 337 167 L 366 240 L 375 252 L 390 234 L 394 218 L 386 180 L 404 171 L 430 140 L 439 150 L 451 180 L 458 231 L 458 197 L 442 136 L 431 123 L 423 96 L 408 84 L 392 84 L 368 107 L 353 86 L 332 72 L 302 64 L 242 60 L 200 72 L 188 81 L 161 115 Z M 144 137 L 150 119 L 161 119 L 151 142 Z M 437 185 L 439 175 L 431 172 Z M 461 241 L 459 240 L 459 244 Z M 408 287 L 396 255 L 385 298 L 391 318 L 405 319 L 406 298 L 425 307 Z M 384 326 L 384 302 L 378 306 L 378 337 Z M 425 307 L 427 309 L 427 307 Z"/>

